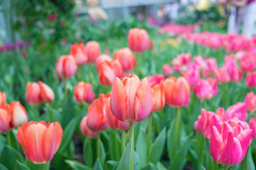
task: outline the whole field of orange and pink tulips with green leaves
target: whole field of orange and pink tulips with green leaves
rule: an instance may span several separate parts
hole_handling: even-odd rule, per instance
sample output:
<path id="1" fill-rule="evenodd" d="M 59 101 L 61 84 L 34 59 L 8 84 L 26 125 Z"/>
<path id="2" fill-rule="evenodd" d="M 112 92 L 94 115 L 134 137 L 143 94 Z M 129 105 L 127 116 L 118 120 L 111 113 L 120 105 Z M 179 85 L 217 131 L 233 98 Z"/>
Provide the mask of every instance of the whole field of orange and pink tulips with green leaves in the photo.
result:
<path id="1" fill-rule="evenodd" d="M 1 47 L 0 169 L 255 170 L 256 36 L 195 27 Z"/>

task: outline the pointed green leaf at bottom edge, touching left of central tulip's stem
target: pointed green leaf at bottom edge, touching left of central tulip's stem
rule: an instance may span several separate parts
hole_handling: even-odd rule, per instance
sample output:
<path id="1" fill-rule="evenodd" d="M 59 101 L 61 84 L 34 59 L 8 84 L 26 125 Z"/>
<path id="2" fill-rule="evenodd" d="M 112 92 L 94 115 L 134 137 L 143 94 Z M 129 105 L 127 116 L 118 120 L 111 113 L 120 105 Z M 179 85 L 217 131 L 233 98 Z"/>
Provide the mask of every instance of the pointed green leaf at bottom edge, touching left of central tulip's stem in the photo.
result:
<path id="1" fill-rule="evenodd" d="M 132 140 L 129 141 L 127 147 L 125 148 L 124 154 L 122 154 L 122 157 L 120 159 L 117 169 L 129 170 L 131 165 L 131 159 L 132 159 Z"/>

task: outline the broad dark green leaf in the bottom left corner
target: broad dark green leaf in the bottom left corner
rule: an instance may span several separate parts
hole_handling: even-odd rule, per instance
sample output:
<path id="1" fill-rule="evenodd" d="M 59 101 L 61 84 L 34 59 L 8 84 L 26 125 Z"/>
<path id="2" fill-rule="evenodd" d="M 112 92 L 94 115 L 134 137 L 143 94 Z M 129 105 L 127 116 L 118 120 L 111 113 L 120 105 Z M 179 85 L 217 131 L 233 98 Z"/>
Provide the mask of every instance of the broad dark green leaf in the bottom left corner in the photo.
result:
<path id="1" fill-rule="evenodd" d="M 17 152 L 13 147 L 5 145 L 3 151 L 1 152 L 0 163 L 6 166 L 6 168 L 9 170 L 15 170 L 17 166 L 16 160 L 23 162 L 21 154 Z"/>

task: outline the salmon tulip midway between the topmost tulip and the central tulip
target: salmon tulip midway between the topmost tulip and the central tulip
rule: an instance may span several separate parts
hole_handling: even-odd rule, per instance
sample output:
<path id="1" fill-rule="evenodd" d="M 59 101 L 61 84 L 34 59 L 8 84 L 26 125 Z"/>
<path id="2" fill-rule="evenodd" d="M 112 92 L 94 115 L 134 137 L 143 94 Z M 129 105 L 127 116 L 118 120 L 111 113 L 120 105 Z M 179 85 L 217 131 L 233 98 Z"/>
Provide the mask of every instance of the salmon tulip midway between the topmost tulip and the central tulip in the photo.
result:
<path id="1" fill-rule="evenodd" d="M 132 51 L 127 47 L 115 51 L 114 59 L 117 59 L 120 62 L 124 72 L 134 69 L 136 66 L 136 58 L 132 54 Z"/>

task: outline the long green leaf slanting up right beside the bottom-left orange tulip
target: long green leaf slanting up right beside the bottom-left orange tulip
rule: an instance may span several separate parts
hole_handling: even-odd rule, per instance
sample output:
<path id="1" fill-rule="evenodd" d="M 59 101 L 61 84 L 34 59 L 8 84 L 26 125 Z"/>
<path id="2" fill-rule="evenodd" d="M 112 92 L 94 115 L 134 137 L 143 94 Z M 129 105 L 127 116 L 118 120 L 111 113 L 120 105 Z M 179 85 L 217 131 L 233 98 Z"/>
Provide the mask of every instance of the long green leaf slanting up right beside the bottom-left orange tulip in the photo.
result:
<path id="1" fill-rule="evenodd" d="M 69 142 L 72 140 L 73 133 L 75 132 L 75 127 L 78 125 L 81 117 L 82 115 L 76 115 L 75 118 L 70 120 L 70 123 L 68 123 L 67 127 L 63 132 L 63 139 L 59 148 L 60 151 L 63 151 L 66 147 L 68 147 Z"/>

